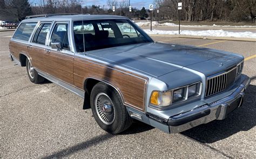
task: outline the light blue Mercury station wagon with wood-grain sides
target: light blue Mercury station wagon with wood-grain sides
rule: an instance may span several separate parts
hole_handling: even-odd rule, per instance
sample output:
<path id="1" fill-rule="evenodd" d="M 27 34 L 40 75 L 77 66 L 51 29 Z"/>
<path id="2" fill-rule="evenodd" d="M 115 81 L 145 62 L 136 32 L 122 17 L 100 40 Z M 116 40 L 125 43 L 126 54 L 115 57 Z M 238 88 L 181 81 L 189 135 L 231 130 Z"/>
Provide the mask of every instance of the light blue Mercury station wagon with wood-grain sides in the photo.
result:
<path id="1" fill-rule="evenodd" d="M 167 133 L 223 120 L 250 83 L 243 56 L 155 42 L 120 16 L 25 19 L 9 46 L 31 82 L 46 78 L 84 98 L 83 108 L 112 134 L 133 119 Z"/>

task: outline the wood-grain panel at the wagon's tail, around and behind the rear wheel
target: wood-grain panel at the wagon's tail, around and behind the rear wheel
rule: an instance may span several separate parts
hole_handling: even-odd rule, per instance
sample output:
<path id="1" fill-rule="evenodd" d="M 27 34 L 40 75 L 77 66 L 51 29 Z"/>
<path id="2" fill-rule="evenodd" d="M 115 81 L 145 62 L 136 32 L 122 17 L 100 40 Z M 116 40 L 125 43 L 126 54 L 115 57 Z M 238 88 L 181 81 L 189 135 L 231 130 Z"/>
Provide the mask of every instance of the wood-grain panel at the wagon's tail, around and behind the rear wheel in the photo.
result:
<path id="1" fill-rule="evenodd" d="M 16 57 L 16 59 L 19 59 L 19 53 L 21 52 L 28 54 L 28 51 L 27 51 L 28 45 L 15 42 L 15 41 L 10 41 L 9 45 L 10 45 L 10 52 Z"/>

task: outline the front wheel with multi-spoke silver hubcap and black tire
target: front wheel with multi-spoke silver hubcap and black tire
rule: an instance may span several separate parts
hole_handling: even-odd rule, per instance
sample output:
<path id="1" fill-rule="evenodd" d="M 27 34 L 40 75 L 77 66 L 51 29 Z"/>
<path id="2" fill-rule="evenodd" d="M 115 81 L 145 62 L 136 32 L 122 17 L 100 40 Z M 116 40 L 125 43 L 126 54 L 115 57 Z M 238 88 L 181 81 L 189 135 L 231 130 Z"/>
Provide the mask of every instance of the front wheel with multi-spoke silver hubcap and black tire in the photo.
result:
<path id="1" fill-rule="evenodd" d="M 106 132 L 118 134 L 132 124 L 118 92 L 111 86 L 99 82 L 91 92 L 91 110 L 97 124 Z"/>

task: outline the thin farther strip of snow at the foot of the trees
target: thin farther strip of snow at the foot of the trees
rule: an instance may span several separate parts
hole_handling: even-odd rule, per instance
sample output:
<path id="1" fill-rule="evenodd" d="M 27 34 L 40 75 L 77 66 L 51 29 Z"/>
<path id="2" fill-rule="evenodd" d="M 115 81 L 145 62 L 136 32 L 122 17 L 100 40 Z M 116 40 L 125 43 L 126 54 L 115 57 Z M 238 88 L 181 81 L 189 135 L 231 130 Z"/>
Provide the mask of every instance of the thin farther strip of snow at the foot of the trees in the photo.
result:
<path id="1" fill-rule="evenodd" d="M 140 27 L 146 27 L 150 26 L 150 21 L 147 22 L 137 22 L 136 23 Z M 163 23 L 159 24 L 157 21 L 152 21 L 152 26 L 179 26 L 174 23 Z M 244 26 L 233 26 L 233 25 L 180 25 L 182 27 L 256 27 L 255 25 L 249 26 L 249 25 L 244 25 Z"/>

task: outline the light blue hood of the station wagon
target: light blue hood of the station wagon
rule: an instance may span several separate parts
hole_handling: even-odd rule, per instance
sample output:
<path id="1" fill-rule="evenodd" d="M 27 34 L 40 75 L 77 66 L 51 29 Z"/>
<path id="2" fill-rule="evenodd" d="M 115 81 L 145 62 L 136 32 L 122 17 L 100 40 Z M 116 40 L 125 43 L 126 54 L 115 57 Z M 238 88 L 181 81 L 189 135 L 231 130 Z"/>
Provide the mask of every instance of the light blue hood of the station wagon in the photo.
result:
<path id="1" fill-rule="evenodd" d="M 152 42 L 87 52 L 87 55 L 114 65 L 159 77 L 183 67 L 211 74 L 235 63 L 231 53 L 184 45 Z M 207 66 L 204 68 L 204 66 Z M 221 66 L 221 68 L 220 68 Z"/>

